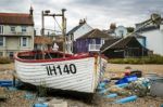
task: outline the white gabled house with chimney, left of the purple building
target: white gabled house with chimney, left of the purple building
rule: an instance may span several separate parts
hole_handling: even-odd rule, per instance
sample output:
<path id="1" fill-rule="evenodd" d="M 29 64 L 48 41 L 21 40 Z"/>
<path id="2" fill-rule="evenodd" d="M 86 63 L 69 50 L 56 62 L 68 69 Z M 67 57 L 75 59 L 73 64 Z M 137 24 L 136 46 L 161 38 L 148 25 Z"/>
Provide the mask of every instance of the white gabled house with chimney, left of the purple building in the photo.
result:
<path id="1" fill-rule="evenodd" d="M 73 53 L 73 42 L 90 30 L 92 30 L 92 27 L 90 27 L 85 19 L 80 19 L 79 24 L 67 32 L 67 53 Z"/>

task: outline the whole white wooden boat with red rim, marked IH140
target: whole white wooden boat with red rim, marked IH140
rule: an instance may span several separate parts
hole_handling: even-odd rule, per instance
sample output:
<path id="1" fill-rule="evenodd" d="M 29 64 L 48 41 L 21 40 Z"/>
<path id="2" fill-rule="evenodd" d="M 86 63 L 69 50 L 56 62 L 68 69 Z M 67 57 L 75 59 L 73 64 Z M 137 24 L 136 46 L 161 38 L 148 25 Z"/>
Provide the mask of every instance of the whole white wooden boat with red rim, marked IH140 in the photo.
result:
<path id="1" fill-rule="evenodd" d="M 90 53 L 29 51 L 14 58 L 16 77 L 23 82 L 85 93 L 96 92 L 106 66 L 104 57 Z"/>

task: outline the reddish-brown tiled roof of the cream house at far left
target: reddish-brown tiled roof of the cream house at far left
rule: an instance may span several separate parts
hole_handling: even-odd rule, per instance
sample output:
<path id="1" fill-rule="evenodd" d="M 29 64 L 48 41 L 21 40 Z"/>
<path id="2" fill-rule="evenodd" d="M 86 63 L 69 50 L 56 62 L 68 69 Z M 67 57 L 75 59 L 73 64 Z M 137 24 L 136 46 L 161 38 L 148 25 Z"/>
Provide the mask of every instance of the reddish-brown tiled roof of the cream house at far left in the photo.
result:
<path id="1" fill-rule="evenodd" d="M 0 24 L 34 26 L 34 19 L 33 15 L 25 13 L 0 13 Z"/>

